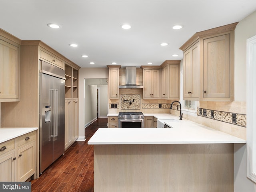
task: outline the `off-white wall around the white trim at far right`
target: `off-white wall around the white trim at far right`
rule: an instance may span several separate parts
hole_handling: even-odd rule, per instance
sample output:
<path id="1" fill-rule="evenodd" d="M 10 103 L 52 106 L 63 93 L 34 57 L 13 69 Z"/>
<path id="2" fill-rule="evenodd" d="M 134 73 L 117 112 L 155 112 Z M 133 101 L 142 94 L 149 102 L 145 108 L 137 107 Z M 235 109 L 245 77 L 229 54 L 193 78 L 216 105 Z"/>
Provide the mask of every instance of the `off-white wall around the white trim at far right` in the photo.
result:
<path id="1" fill-rule="evenodd" d="M 256 12 L 241 20 L 235 29 L 235 101 L 246 101 L 246 40 L 256 35 Z M 235 145 L 234 192 L 255 192 L 256 184 L 246 177 L 246 146 Z"/>

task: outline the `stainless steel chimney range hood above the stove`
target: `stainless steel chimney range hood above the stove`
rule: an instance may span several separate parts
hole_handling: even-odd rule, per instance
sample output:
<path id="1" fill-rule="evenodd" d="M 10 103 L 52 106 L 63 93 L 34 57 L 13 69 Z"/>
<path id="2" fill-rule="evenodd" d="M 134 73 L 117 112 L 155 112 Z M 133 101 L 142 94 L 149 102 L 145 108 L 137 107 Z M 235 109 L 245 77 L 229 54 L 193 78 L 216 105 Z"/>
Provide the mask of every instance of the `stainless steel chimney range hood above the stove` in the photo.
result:
<path id="1" fill-rule="evenodd" d="M 125 67 L 125 85 L 120 85 L 119 88 L 143 88 L 142 85 L 136 85 L 136 66 Z"/>

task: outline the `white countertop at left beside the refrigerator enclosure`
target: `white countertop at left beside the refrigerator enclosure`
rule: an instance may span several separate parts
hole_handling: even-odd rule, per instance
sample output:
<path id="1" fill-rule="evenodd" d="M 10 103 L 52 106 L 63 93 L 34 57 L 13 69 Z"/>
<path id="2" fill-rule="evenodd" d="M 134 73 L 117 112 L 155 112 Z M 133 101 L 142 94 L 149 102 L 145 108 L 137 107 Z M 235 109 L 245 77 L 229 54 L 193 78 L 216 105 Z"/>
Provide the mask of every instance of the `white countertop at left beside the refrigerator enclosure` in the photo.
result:
<path id="1" fill-rule="evenodd" d="M 20 128 L 0 128 L 0 143 L 24 135 L 26 133 L 38 130 L 37 127 L 20 127 Z"/>

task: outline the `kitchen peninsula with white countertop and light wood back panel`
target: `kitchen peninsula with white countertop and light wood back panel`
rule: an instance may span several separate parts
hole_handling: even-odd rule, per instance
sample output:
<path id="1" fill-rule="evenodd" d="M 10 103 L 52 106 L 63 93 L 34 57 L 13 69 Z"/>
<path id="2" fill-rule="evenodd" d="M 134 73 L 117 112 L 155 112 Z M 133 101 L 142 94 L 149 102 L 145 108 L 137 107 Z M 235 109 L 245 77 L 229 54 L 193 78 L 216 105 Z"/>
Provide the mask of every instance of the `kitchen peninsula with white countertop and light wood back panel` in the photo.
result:
<path id="1" fill-rule="evenodd" d="M 234 144 L 246 140 L 173 119 L 172 128 L 99 128 L 88 141 L 94 191 L 233 191 Z"/>

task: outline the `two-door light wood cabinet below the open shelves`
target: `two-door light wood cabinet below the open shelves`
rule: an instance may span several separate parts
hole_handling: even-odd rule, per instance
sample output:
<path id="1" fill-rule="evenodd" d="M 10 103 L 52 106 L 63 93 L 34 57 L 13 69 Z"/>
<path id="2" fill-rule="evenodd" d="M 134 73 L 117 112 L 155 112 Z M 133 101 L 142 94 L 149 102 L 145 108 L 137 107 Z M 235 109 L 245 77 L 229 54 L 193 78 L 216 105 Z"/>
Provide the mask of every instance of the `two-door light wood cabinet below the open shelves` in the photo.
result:
<path id="1" fill-rule="evenodd" d="M 78 99 L 65 99 L 65 150 L 78 138 Z"/>

